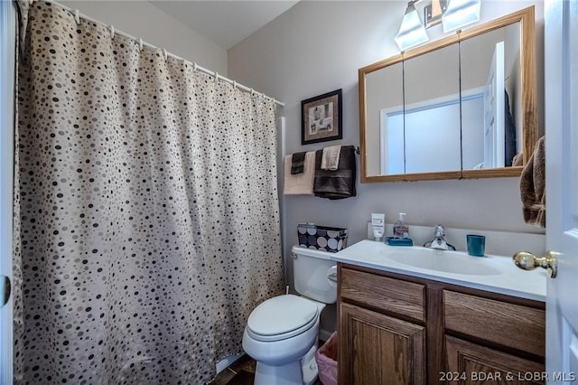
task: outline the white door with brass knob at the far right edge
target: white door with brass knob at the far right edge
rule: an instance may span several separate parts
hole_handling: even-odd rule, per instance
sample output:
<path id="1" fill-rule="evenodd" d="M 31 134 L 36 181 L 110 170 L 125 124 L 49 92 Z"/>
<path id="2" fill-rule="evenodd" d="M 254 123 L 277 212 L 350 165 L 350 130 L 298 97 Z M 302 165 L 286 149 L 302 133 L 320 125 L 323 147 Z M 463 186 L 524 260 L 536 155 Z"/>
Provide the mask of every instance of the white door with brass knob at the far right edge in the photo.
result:
<path id="1" fill-rule="evenodd" d="M 545 4 L 546 249 L 549 383 L 578 381 L 578 2 Z"/>

